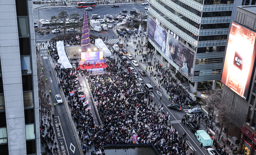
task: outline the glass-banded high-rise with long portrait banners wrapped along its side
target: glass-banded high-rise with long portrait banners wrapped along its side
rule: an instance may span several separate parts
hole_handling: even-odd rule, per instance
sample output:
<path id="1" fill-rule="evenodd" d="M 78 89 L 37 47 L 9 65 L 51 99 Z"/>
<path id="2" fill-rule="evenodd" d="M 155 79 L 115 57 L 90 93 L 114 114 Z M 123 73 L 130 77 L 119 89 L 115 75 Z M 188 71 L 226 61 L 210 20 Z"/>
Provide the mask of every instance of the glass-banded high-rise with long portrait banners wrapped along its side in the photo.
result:
<path id="1" fill-rule="evenodd" d="M 149 47 L 194 84 L 221 79 L 236 6 L 242 0 L 148 0 Z"/>

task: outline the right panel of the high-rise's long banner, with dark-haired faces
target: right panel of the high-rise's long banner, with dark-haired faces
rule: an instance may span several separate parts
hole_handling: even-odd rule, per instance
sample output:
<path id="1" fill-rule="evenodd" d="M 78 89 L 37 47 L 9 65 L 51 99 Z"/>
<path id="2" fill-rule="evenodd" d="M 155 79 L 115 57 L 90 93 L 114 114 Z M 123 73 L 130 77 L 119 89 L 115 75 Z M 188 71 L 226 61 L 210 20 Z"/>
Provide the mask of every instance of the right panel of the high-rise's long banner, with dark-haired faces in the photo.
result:
<path id="1" fill-rule="evenodd" d="M 195 53 L 171 34 L 167 34 L 165 49 L 165 55 L 179 66 L 184 73 L 193 77 Z"/>

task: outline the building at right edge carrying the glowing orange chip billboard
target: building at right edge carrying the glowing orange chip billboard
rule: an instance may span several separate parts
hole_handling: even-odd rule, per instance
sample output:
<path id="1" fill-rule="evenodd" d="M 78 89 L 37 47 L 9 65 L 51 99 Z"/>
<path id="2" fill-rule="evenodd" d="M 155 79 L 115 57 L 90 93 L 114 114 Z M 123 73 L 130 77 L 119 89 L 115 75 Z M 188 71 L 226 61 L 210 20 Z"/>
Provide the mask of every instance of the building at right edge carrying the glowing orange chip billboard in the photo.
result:
<path id="1" fill-rule="evenodd" d="M 256 155 L 255 41 L 256 6 L 238 6 L 231 23 L 221 82 L 222 98 L 233 100 L 237 110 L 233 123 L 240 128 L 239 153 L 245 151 L 247 155 Z"/>

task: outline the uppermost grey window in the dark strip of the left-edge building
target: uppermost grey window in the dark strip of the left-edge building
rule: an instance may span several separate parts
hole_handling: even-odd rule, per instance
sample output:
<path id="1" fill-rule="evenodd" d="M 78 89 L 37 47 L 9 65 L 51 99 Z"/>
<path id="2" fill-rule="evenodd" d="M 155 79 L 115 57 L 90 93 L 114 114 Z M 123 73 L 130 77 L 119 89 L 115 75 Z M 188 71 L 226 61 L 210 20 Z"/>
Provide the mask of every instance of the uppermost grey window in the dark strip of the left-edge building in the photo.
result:
<path id="1" fill-rule="evenodd" d="M 18 17 L 19 36 L 29 36 L 29 26 L 27 17 Z"/>

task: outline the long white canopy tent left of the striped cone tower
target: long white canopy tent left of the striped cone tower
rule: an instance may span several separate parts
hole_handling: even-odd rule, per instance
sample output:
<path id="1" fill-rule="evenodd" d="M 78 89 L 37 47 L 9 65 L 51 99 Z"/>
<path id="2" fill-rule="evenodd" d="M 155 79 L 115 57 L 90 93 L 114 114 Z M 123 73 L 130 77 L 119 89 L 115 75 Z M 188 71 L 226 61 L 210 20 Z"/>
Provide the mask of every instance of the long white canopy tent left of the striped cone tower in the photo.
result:
<path id="1" fill-rule="evenodd" d="M 61 64 L 61 68 L 73 68 L 65 54 L 63 41 L 57 41 L 57 51 L 60 57 L 58 63 Z"/>

